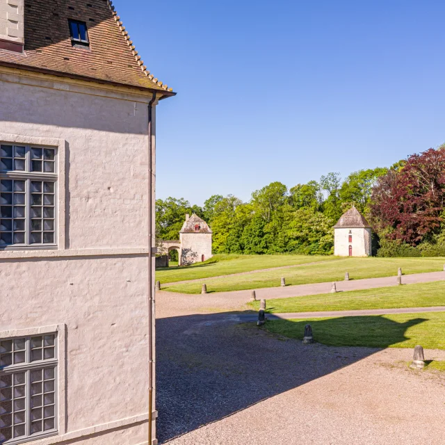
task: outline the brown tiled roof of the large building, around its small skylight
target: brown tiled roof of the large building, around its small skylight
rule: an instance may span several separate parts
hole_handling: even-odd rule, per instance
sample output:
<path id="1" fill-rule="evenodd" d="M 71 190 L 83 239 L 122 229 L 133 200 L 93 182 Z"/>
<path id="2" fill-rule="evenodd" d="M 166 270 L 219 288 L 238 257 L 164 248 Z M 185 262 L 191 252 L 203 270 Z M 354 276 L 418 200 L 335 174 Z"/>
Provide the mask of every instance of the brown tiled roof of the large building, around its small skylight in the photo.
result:
<path id="1" fill-rule="evenodd" d="M 86 22 L 90 49 L 72 46 L 68 19 Z M 25 0 L 24 22 L 24 54 L 0 49 L 0 65 L 175 94 L 147 70 L 110 0 Z"/>

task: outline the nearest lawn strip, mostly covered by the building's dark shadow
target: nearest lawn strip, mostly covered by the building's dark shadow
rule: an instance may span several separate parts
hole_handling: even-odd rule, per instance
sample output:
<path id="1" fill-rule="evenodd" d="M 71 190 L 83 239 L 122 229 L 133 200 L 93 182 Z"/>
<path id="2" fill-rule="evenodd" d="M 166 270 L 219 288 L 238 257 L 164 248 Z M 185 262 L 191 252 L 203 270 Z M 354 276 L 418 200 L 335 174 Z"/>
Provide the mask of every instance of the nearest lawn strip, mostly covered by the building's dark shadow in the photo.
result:
<path id="1" fill-rule="evenodd" d="M 445 349 L 445 312 L 277 320 L 268 321 L 264 329 L 302 339 L 307 323 L 314 341 L 329 346 Z"/>

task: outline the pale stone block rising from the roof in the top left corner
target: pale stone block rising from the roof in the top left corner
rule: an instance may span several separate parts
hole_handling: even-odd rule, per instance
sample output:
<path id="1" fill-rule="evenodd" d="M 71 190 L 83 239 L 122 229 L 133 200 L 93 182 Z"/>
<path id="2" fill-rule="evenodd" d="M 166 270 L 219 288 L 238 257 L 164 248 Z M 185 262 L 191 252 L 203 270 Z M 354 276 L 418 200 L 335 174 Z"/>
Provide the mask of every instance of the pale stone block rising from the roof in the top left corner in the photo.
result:
<path id="1" fill-rule="evenodd" d="M 24 0 L 0 0 L 0 40 L 23 44 Z"/>

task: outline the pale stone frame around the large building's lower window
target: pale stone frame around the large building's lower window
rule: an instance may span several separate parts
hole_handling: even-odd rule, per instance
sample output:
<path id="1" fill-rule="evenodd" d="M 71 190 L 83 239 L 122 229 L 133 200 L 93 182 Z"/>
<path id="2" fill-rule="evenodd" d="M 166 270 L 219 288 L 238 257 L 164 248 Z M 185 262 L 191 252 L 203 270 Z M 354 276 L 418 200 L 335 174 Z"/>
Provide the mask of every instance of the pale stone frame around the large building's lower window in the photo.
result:
<path id="1" fill-rule="evenodd" d="M 56 334 L 56 360 L 57 360 L 57 371 L 55 376 L 55 386 L 56 386 L 56 396 L 55 396 L 55 421 L 56 421 L 56 431 L 51 431 L 47 434 L 42 434 L 35 437 L 26 437 L 17 440 L 11 440 L 4 442 L 5 445 L 18 445 L 24 443 L 30 444 L 43 444 L 45 438 L 55 437 L 64 435 L 67 432 L 66 423 L 66 325 L 64 323 L 58 325 L 49 325 L 42 327 L 28 327 L 24 329 L 15 330 L 4 330 L 0 331 L 0 340 L 23 338 L 23 337 L 37 337 L 40 335 Z M 44 361 L 39 362 L 40 367 L 42 367 Z M 32 366 L 31 366 L 32 367 Z M 39 367 L 39 366 L 38 366 Z M 12 369 L 10 369 L 12 371 Z M 0 371 L 1 372 L 1 371 Z M 28 405 L 26 405 L 26 412 L 28 412 Z M 52 443 L 52 442 L 51 442 Z"/>

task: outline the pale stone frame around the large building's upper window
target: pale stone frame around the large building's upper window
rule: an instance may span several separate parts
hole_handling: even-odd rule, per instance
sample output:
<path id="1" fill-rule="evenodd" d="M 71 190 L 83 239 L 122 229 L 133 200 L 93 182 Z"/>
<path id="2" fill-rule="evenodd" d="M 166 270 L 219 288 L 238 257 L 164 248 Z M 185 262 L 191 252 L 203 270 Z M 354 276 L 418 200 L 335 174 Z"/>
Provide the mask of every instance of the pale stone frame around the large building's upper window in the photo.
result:
<path id="1" fill-rule="evenodd" d="M 0 259 L 3 252 L 27 250 L 65 250 L 65 156 L 66 141 L 57 138 L 40 138 L 16 134 L 0 133 L 0 142 L 10 145 L 37 146 L 56 149 L 56 190 L 55 190 L 55 239 L 51 245 L 8 245 L 0 248 Z M 29 175 L 25 173 L 25 175 Z M 41 175 L 44 176 L 44 175 Z"/>

